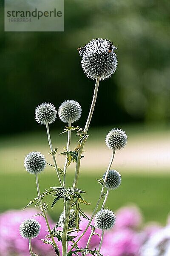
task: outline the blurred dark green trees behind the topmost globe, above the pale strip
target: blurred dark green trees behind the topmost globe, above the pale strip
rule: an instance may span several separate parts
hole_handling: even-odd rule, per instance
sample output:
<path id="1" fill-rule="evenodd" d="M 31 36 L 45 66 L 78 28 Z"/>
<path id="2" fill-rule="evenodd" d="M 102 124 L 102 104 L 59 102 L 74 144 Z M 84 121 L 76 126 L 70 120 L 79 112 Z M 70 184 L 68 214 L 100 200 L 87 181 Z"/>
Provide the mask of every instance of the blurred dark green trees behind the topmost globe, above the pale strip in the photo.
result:
<path id="1" fill-rule="evenodd" d="M 34 109 L 44 101 L 77 100 L 83 125 L 94 81 L 76 49 L 93 38 L 118 47 L 118 68 L 100 83 L 92 125 L 169 119 L 168 0 L 65 0 L 64 32 L 4 32 L 0 9 L 1 133 L 40 129 Z"/>

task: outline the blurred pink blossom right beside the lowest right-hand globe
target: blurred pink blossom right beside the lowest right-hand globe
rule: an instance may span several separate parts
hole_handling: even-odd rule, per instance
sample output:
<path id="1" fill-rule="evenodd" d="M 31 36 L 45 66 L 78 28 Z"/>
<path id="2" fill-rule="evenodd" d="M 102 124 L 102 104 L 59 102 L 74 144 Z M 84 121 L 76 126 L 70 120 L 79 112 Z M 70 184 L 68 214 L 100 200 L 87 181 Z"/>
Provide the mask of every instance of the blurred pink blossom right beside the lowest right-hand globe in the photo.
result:
<path id="1" fill-rule="evenodd" d="M 136 229 L 142 224 L 142 214 L 138 207 L 127 206 L 116 211 L 116 224 L 114 229 L 122 229 L 125 227 Z"/>

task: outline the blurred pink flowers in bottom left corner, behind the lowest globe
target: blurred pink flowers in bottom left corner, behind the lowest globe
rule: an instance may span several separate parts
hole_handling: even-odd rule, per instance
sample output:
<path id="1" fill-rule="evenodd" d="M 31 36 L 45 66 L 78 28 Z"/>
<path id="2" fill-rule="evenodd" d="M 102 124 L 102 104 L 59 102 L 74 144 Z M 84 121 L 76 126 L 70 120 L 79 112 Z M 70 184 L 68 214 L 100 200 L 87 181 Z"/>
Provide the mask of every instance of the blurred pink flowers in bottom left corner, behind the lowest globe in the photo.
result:
<path id="1" fill-rule="evenodd" d="M 36 209 L 10 210 L 0 214 L 0 256 L 9 256 L 17 254 L 19 256 L 30 256 L 28 250 L 28 239 L 23 239 L 19 233 L 19 227 L 22 221 L 26 218 L 32 218 L 37 213 L 40 213 Z M 44 239 L 48 234 L 45 220 L 42 216 L 34 217 L 40 222 L 41 230 L 37 238 L 32 239 L 32 246 L 34 253 L 39 256 L 56 256 L 51 245 L 43 244 L 41 239 Z M 48 217 L 51 227 L 54 223 Z"/>

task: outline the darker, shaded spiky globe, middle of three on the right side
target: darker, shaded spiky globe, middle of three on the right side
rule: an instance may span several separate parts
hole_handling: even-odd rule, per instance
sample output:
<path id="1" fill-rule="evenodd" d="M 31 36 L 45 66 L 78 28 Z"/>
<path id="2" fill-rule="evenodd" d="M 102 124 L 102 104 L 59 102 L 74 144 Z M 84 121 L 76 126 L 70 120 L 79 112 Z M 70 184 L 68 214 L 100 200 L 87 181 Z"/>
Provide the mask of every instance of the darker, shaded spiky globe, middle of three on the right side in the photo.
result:
<path id="1" fill-rule="evenodd" d="M 105 179 L 105 175 L 106 173 L 103 175 L 103 180 Z M 110 170 L 105 181 L 105 187 L 107 189 L 117 189 L 120 186 L 121 181 L 122 176 L 120 175 L 120 173 L 116 170 Z"/>

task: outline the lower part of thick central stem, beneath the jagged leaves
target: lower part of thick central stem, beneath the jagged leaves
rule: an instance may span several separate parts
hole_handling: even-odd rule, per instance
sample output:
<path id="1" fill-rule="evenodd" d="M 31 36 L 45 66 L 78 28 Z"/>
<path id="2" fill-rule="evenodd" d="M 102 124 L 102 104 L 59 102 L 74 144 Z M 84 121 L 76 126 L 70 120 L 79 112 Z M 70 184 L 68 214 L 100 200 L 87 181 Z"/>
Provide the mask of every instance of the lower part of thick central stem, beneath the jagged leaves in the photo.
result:
<path id="1" fill-rule="evenodd" d="M 67 230 L 68 230 L 68 222 L 69 222 L 69 215 L 71 209 L 72 199 L 67 201 L 67 207 L 65 215 L 67 216 L 64 221 L 63 233 L 62 233 L 62 256 L 67 255 Z"/>

